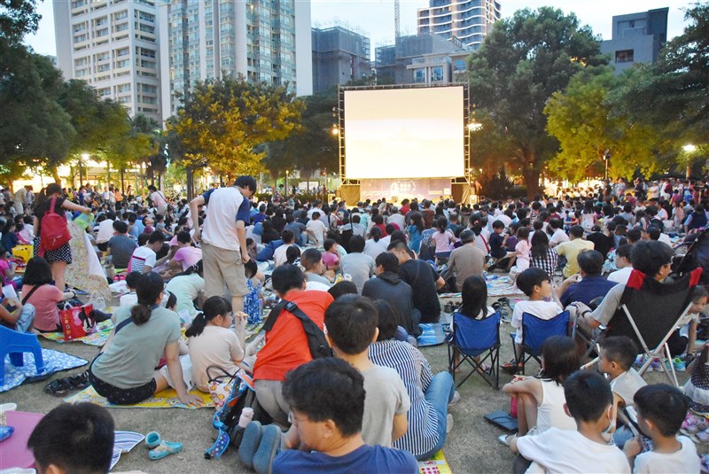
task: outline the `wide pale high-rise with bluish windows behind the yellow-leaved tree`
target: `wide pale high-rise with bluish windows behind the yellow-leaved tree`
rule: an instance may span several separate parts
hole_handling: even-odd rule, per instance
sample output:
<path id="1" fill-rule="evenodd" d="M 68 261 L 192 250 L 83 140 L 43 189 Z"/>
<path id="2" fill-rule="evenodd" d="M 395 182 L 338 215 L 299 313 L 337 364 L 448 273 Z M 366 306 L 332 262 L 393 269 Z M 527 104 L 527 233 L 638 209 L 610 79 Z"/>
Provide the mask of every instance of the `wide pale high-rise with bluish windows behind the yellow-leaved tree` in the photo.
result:
<path id="1" fill-rule="evenodd" d="M 313 93 L 310 2 L 160 0 L 162 113 L 197 81 L 243 74 Z"/>

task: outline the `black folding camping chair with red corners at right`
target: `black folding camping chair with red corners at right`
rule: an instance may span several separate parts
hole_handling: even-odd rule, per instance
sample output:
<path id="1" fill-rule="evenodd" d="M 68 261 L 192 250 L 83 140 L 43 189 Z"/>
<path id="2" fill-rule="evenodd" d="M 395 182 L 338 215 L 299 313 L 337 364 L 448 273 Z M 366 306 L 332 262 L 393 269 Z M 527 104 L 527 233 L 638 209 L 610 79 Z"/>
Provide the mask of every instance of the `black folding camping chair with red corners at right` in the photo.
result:
<path id="1" fill-rule="evenodd" d="M 646 356 L 646 361 L 638 371 L 641 376 L 650 367 L 651 361 L 657 358 L 669 366 L 669 372 L 665 370 L 665 374 L 670 383 L 679 387 L 667 339 L 690 310 L 692 291 L 701 276 L 702 268 L 695 268 L 674 282 L 661 283 L 633 270 L 620 297 L 619 308 L 611 321 L 601 327 L 598 336 L 590 341 L 589 351 L 596 348 L 603 338 L 627 336 L 635 341 Z M 597 357 L 584 367 L 596 361 Z"/>

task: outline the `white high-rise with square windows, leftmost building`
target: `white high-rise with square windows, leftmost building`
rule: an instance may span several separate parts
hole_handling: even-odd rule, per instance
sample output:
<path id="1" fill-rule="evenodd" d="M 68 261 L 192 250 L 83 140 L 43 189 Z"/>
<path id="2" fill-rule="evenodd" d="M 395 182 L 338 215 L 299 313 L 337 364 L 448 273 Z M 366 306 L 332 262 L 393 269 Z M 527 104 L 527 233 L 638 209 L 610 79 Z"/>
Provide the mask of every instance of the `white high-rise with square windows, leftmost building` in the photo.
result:
<path id="1" fill-rule="evenodd" d="M 57 66 L 129 114 L 160 120 L 160 56 L 152 0 L 53 2 Z"/>

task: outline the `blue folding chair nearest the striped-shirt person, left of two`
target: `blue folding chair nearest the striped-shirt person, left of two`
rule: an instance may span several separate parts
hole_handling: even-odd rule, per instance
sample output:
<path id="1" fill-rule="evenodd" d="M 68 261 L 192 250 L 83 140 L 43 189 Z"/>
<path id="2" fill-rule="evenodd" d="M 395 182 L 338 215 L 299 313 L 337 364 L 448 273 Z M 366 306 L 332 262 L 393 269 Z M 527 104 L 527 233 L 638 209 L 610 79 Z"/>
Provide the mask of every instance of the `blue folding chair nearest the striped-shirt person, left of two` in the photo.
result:
<path id="1" fill-rule="evenodd" d="M 456 369 L 464 363 L 471 365 L 471 371 L 457 385 L 460 387 L 473 374 L 480 377 L 491 387 L 500 388 L 500 313 L 493 313 L 483 319 L 473 319 L 460 313 L 453 314 L 453 332 L 448 342 L 448 371 L 456 383 Z M 486 354 L 487 353 L 487 354 Z M 475 357 L 485 354 L 480 361 Z M 459 360 L 456 362 L 456 355 Z M 483 364 L 490 361 L 490 369 Z"/>

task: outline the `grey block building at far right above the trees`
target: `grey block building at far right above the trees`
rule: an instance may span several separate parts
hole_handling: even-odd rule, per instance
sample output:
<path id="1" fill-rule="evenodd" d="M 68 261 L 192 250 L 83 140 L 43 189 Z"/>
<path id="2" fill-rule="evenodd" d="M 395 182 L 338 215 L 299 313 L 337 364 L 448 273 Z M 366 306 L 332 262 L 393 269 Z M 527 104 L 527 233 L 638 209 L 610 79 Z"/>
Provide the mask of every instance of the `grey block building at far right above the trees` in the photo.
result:
<path id="1" fill-rule="evenodd" d="M 639 63 L 652 63 L 667 43 L 669 8 L 613 17 L 612 39 L 601 43 L 601 52 L 611 55 L 616 74 Z"/>

